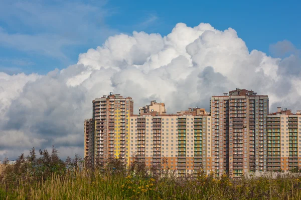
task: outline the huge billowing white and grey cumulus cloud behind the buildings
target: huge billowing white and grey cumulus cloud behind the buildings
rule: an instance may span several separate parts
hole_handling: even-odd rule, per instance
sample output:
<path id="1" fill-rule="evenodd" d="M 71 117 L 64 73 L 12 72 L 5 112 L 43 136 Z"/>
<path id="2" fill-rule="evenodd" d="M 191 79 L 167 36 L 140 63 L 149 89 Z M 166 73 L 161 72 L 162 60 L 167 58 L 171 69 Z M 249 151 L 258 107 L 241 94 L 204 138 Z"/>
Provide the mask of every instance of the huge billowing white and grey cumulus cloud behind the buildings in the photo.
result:
<path id="1" fill-rule="evenodd" d="M 275 48 L 281 46 L 287 48 Z M 92 100 L 110 91 L 133 97 L 135 111 L 152 99 L 165 102 L 168 112 L 208 109 L 210 96 L 236 87 L 268 94 L 271 110 L 295 110 L 299 66 L 298 53 L 278 58 L 250 51 L 234 29 L 208 23 L 178 23 L 166 36 L 110 36 L 65 69 L 43 76 L 0 73 L 0 159 L 52 145 L 63 157 L 82 155 L 83 121 L 92 115 Z"/>

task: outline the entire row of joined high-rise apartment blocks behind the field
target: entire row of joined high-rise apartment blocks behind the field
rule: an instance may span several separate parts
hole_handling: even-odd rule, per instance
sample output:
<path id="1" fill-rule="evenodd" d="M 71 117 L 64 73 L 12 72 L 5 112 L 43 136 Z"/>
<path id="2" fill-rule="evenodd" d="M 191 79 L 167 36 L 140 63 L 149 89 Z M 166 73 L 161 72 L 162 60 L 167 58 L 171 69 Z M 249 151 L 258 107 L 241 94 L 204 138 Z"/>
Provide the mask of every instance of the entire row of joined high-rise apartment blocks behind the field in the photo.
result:
<path id="1" fill-rule="evenodd" d="M 195 107 L 174 114 L 153 100 L 136 115 L 131 97 L 110 93 L 93 100 L 84 132 L 91 163 L 121 157 L 178 175 L 203 169 L 240 176 L 301 167 L 301 111 L 269 113 L 268 96 L 246 89 L 212 96 L 210 112 Z"/>

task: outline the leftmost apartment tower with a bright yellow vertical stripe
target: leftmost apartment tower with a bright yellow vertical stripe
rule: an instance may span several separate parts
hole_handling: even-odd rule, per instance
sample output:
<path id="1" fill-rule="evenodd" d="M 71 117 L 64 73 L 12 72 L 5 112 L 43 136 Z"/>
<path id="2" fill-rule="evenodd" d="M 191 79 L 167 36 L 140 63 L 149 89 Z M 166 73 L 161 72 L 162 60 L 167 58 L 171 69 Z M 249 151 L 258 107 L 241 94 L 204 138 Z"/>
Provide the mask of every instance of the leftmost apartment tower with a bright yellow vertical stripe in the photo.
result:
<path id="1" fill-rule="evenodd" d="M 133 114 L 132 98 L 110 92 L 108 96 L 95 98 L 92 103 L 93 117 L 85 120 L 85 134 L 88 138 L 85 146 L 89 146 L 85 153 L 86 160 L 92 164 L 96 160 L 104 161 L 110 157 L 121 157 L 128 161 L 126 133 L 129 128 L 126 123 Z"/>

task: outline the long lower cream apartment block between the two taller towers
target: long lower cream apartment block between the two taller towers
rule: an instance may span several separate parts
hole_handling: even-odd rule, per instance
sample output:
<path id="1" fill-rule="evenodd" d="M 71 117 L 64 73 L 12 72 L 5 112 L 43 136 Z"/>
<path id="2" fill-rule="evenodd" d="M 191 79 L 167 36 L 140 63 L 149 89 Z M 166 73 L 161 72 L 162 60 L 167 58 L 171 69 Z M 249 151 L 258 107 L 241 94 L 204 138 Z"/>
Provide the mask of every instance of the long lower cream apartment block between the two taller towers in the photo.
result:
<path id="1" fill-rule="evenodd" d="M 130 161 L 136 158 L 146 166 L 161 163 L 179 175 L 201 168 L 209 172 L 210 118 L 204 108 L 197 107 L 177 114 L 150 110 L 132 115 L 129 121 Z"/>

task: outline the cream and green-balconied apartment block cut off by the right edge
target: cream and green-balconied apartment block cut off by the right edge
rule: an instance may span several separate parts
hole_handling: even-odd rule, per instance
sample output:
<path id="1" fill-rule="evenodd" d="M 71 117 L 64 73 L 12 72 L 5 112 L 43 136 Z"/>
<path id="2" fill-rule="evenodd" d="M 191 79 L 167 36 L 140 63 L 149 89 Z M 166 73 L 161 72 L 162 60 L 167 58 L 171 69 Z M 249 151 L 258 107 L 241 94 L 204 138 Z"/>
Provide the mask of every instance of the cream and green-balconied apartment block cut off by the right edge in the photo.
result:
<path id="1" fill-rule="evenodd" d="M 267 169 L 301 167 L 301 111 L 277 108 L 267 117 Z"/>

